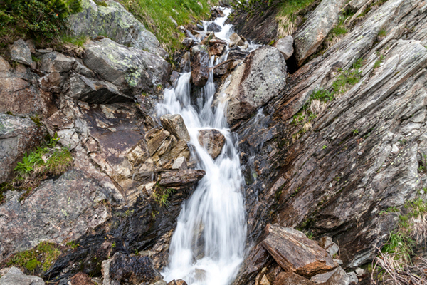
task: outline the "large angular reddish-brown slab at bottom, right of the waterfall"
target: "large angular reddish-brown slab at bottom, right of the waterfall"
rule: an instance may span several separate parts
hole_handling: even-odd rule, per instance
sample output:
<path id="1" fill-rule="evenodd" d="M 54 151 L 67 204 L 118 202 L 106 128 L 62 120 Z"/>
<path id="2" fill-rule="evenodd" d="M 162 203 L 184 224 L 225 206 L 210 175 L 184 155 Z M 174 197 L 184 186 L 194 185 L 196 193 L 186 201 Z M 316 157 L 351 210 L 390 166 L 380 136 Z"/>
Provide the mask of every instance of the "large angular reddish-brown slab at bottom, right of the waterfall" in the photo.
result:
<path id="1" fill-rule="evenodd" d="M 325 249 L 302 232 L 274 224 L 268 224 L 265 232 L 263 247 L 285 271 L 310 277 L 335 267 Z"/>

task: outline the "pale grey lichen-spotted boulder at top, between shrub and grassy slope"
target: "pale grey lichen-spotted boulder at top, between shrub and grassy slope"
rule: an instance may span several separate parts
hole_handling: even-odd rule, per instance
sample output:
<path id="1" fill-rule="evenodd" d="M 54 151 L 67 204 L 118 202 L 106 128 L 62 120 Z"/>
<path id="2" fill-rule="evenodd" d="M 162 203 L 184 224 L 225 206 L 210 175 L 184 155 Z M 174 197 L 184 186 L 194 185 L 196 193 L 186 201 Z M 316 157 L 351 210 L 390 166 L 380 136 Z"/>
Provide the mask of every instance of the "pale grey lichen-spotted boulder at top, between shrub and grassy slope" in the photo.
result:
<path id="1" fill-rule="evenodd" d="M 82 0 L 82 11 L 71 15 L 68 21 L 75 36 L 102 34 L 125 46 L 135 46 L 157 56 L 167 55 L 157 38 L 122 5 L 113 0 L 105 4 L 98 6 L 92 0 Z"/>

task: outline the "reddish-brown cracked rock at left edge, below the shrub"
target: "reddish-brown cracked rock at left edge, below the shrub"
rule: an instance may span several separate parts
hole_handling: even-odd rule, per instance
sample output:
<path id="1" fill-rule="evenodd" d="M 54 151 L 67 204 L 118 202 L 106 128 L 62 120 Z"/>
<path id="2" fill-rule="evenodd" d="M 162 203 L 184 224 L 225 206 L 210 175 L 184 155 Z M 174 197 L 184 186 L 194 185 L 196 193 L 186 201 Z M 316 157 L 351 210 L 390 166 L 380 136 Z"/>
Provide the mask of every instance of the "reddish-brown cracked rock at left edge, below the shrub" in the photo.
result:
<path id="1" fill-rule="evenodd" d="M 38 79 L 30 68 L 20 63 L 12 67 L 0 56 L 0 113 L 43 117 L 54 113 L 52 94 L 39 88 Z"/>

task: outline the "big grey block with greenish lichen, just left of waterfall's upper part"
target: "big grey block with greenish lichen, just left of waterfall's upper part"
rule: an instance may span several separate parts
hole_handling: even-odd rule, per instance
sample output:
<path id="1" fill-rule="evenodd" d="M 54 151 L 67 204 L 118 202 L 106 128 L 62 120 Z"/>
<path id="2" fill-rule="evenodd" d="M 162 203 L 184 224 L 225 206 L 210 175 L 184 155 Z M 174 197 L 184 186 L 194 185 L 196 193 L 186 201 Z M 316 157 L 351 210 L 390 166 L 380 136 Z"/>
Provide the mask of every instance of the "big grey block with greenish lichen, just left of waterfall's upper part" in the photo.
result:
<path id="1" fill-rule="evenodd" d="M 169 63 L 153 53 L 127 48 L 109 38 L 86 44 L 85 51 L 85 65 L 126 95 L 152 93 L 169 80 Z"/>

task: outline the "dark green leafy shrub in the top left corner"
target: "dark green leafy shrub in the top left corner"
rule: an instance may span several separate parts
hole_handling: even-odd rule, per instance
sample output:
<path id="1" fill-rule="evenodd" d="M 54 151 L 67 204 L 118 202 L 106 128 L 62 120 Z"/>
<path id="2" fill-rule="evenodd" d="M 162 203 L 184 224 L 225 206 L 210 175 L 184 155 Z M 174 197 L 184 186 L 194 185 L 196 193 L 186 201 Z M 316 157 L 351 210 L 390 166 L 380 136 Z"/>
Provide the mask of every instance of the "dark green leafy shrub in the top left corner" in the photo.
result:
<path id="1" fill-rule="evenodd" d="M 80 9 L 80 0 L 0 1 L 0 48 L 17 38 L 51 41 L 65 31 L 68 16 Z"/>

